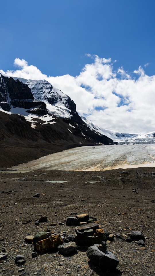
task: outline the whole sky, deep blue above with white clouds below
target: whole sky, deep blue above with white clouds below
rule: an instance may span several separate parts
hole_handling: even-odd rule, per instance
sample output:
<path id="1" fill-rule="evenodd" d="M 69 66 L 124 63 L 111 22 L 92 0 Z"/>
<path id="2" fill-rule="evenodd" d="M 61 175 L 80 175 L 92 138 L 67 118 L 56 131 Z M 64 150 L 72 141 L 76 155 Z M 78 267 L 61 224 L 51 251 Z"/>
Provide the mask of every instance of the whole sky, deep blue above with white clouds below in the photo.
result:
<path id="1" fill-rule="evenodd" d="M 154 0 L 8 0 L 1 1 L 0 9 L 0 69 L 3 72 L 6 73 L 9 70 L 11 75 L 13 71 L 19 68 L 22 70 L 23 67 L 20 67 L 19 60 L 25 60 L 29 66 L 38 68 L 38 72 L 40 70 L 42 76 L 53 77 L 51 80 L 54 85 L 57 85 L 56 87 L 75 101 L 78 112 L 85 114 L 91 120 L 95 119 L 95 122 L 100 123 L 102 127 L 128 132 L 155 130 L 155 125 L 150 118 L 153 114 L 149 113 L 150 106 L 146 110 L 146 113 L 149 113 L 147 120 L 144 120 L 140 113 L 137 114 L 138 108 L 143 106 L 142 103 L 137 107 L 132 105 L 124 111 L 126 112 L 124 117 L 126 120 L 131 121 L 129 115 L 132 115 L 133 120 L 130 124 L 127 122 L 123 124 L 123 119 L 119 116 L 118 122 L 112 122 L 114 107 L 113 104 L 108 105 L 108 97 L 105 95 L 98 96 L 96 94 L 101 93 L 93 92 L 92 85 L 91 88 L 89 87 L 89 76 L 87 76 L 87 82 L 86 79 L 81 79 L 81 74 L 86 72 L 86 68 L 90 69 L 91 65 L 95 66 L 97 56 L 104 69 L 108 64 L 113 72 L 107 80 L 110 78 L 114 80 L 114 75 L 117 73 L 115 83 L 118 83 L 120 79 L 126 79 L 128 81 L 127 89 L 129 81 L 132 80 L 135 83 L 142 72 L 148 77 L 155 75 Z M 14 63 L 17 58 L 19 59 L 18 62 Z M 109 62 L 105 62 L 102 60 L 103 58 Z M 141 71 L 139 71 L 139 66 L 141 66 Z M 97 68 L 99 67 L 97 66 Z M 30 67 L 27 66 L 28 75 L 30 75 L 29 69 Z M 67 74 L 70 78 L 69 76 L 64 77 Z M 96 73 L 96 75 L 100 75 L 100 73 Z M 22 76 L 26 78 L 26 70 Z M 37 75 L 33 75 L 32 72 L 30 76 L 37 78 Z M 60 76 L 61 79 L 58 79 L 57 76 Z M 38 77 L 41 78 L 40 74 Z M 93 101 L 92 106 L 82 107 L 82 101 L 85 100 L 79 99 L 78 92 L 74 92 L 77 77 L 78 80 L 80 78 L 79 90 L 83 88 L 86 92 L 83 91 L 79 95 L 86 97 L 86 99 L 90 96 Z M 102 77 L 101 74 L 101 81 Z M 96 76 L 96 80 L 99 80 L 98 76 Z M 67 81 L 70 81 L 69 87 L 63 85 Z M 148 82 L 145 80 L 145 85 L 147 84 L 148 88 L 150 81 L 150 92 L 145 90 L 143 93 L 147 92 L 148 97 L 154 100 L 152 79 L 149 78 Z M 94 85 L 96 86 L 95 82 Z M 100 87 L 102 91 L 106 90 L 104 85 L 105 83 L 102 82 L 102 88 Z M 114 83 L 112 85 L 114 87 Z M 137 90 L 139 91 L 139 89 Z M 90 94 L 87 95 L 88 93 Z M 114 103 L 117 103 L 117 106 L 115 105 L 117 114 L 123 116 L 121 112 L 124 110 L 125 103 L 127 106 L 136 99 L 133 99 L 133 95 L 131 96 L 132 91 L 131 94 L 129 91 L 128 95 L 124 95 L 124 92 L 114 89 L 112 93 L 116 97 L 120 95 L 119 102 L 117 99 L 117 101 L 114 100 Z M 102 116 L 96 97 L 106 100 L 106 103 L 101 101 L 101 111 L 104 111 Z M 113 101 L 112 98 L 111 100 Z M 109 108 L 112 108 L 111 111 Z M 107 114 L 105 110 L 107 110 Z M 131 110 L 134 110 L 135 113 L 129 114 Z M 93 113 L 94 111 L 98 113 Z M 98 117 L 97 120 L 96 116 L 99 115 L 101 117 Z M 106 115 L 106 122 L 101 120 L 103 115 Z M 137 116 L 136 119 L 139 120 L 139 123 L 134 123 L 133 127 L 135 116 Z M 146 124 L 147 127 L 144 127 Z"/>

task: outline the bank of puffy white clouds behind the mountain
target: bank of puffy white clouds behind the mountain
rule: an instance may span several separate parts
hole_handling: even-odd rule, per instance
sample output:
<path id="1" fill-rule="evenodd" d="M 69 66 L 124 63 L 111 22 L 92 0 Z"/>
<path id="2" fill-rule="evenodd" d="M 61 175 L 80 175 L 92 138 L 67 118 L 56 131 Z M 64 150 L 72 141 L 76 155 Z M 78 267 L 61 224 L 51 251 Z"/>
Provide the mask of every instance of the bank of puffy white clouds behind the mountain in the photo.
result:
<path id="1" fill-rule="evenodd" d="M 62 90 L 76 104 L 80 115 L 100 127 L 124 133 L 155 131 L 154 102 L 155 75 L 146 75 L 139 66 L 129 74 L 123 67 L 113 69 L 111 58 L 91 56 L 78 76 L 47 76 L 36 66 L 16 58 L 17 70 L 2 74 L 26 79 L 45 79 Z M 148 64 L 147 64 L 148 65 Z"/>

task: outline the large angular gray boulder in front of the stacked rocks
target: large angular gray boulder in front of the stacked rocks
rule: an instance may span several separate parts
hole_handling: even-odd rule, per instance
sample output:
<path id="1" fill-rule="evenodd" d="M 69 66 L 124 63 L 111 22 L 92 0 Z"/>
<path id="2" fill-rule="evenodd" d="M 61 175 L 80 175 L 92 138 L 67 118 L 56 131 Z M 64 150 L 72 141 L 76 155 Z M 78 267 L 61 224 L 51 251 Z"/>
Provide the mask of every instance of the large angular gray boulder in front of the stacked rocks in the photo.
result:
<path id="1" fill-rule="evenodd" d="M 102 252 L 98 249 L 98 244 L 88 247 L 87 256 L 98 267 L 103 269 L 113 270 L 119 264 L 119 259 L 112 252 Z"/>

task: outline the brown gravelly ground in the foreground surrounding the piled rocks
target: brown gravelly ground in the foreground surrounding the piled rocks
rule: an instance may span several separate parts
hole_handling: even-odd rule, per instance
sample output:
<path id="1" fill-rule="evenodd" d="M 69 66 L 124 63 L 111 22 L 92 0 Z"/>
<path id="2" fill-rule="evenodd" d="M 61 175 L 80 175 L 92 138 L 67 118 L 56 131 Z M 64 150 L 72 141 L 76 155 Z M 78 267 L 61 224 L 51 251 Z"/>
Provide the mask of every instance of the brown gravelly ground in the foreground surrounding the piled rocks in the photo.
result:
<path id="1" fill-rule="evenodd" d="M 1 275 L 153 276 L 154 176 L 151 167 L 100 172 L 2 172 L 0 250 L 2 256 L 6 255 L 0 261 Z M 33 256 L 34 246 L 25 241 L 27 235 L 40 231 L 63 238 L 75 235 L 75 227 L 67 226 L 66 220 L 83 213 L 112 234 L 106 246 L 119 259 L 116 269 L 100 268 L 88 258 L 88 247 L 82 245 L 68 255 L 55 248 Z M 36 223 L 42 217 L 47 221 Z M 143 245 L 131 241 L 133 230 L 144 234 Z M 15 263 L 17 255 L 24 256 L 24 264 Z"/>

